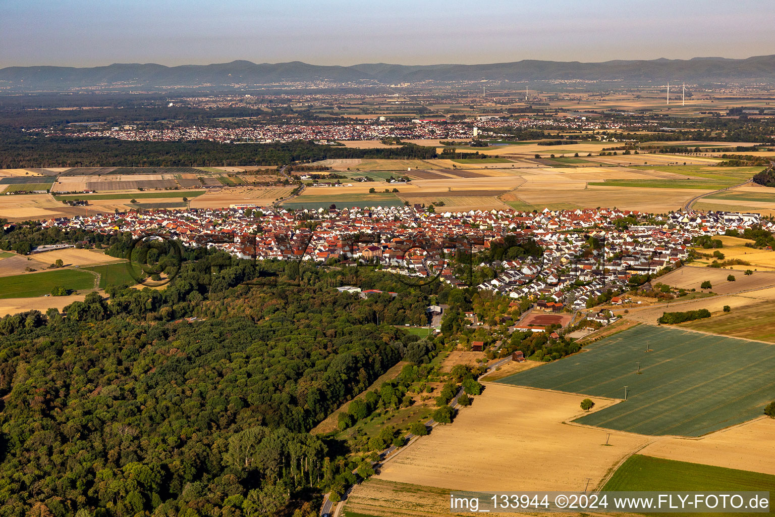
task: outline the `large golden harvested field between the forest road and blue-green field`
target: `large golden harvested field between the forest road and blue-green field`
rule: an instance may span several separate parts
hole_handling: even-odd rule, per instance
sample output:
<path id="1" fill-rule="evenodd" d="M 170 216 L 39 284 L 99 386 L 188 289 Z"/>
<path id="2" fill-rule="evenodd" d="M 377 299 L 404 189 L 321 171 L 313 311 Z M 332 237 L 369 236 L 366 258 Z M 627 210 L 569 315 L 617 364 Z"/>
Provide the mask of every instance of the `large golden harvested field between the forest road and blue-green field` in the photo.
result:
<path id="1" fill-rule="evenodd" d="M 563 424 L 582 412 L 582 398 L 488 383 L 452 425 L 436 426 L 384 464 L 376 479 L 471 491 L 584 490 L 587 477 L 590 486 L 598 484 L 649 438 L 613 432 L 605 446 L 609 431 Z M 614 403 L 594 402 L 596 408 Z"/>

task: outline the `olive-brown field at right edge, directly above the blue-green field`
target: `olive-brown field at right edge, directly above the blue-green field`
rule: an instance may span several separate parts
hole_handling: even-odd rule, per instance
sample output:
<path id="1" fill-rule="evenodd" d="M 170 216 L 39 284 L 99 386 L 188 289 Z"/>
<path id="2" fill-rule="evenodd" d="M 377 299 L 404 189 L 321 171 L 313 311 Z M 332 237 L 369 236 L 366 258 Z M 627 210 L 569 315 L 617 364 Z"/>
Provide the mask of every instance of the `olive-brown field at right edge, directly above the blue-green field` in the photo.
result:
<path id="1" fill-rule="evenodd" d="M 775 300 L 750 300 L 750 305 L 735 307 L 732 312 L 681 323 L 680 327 L 775 343 Z"/>

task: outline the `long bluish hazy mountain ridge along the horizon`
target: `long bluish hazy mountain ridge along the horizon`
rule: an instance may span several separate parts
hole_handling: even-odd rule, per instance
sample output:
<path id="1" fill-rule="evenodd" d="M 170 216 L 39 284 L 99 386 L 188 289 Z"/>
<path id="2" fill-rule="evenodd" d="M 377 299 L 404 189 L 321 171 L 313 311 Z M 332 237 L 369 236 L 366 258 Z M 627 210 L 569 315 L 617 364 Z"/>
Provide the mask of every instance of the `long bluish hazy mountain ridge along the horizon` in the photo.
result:
<path id="1" fill-rule="evenodd" d="M 694 57 L 690 60 L 579 61 L 522 60 L 493 64 L 355 64 L 322 66 L 290 63 L 255 64 L 246 60 L 206 65 L 166 67 L 161 64 L 111 64 L 105 67 L 6 67 L 0 69 L 0 87 L 13 89 L 69 89 L 98 86 L 225 86 L 281 82 L 377 81 L 380 84 L 421 81 L 546 81 L 621 80 L 687 82 L 775 82 L 775 55 L 747 59 Z"/>

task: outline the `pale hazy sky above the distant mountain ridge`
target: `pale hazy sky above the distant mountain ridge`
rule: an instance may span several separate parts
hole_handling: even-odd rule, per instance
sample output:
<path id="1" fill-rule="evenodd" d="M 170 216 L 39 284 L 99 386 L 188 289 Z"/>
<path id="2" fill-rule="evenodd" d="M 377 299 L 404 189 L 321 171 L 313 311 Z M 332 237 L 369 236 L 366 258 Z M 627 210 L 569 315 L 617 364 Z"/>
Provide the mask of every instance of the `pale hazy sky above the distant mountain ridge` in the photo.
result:
<path id="1" fill-rule="evenodd" d="M 0 67 L 775 53 L 770 0 L 0 0 Z"/>

